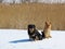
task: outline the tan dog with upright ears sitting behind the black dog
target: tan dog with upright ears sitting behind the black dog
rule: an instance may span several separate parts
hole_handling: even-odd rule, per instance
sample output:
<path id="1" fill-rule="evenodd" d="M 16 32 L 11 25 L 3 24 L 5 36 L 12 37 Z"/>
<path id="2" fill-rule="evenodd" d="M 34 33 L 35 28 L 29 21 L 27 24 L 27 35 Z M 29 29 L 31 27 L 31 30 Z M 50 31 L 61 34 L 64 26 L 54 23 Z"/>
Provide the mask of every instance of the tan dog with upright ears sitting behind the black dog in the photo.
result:
<path id="1" fill-rule="evenodd" d="M 51 30 L 51 22 L 47 21 L 43 29 L 44 38 L 51 38 L 50 30 Z"/>

